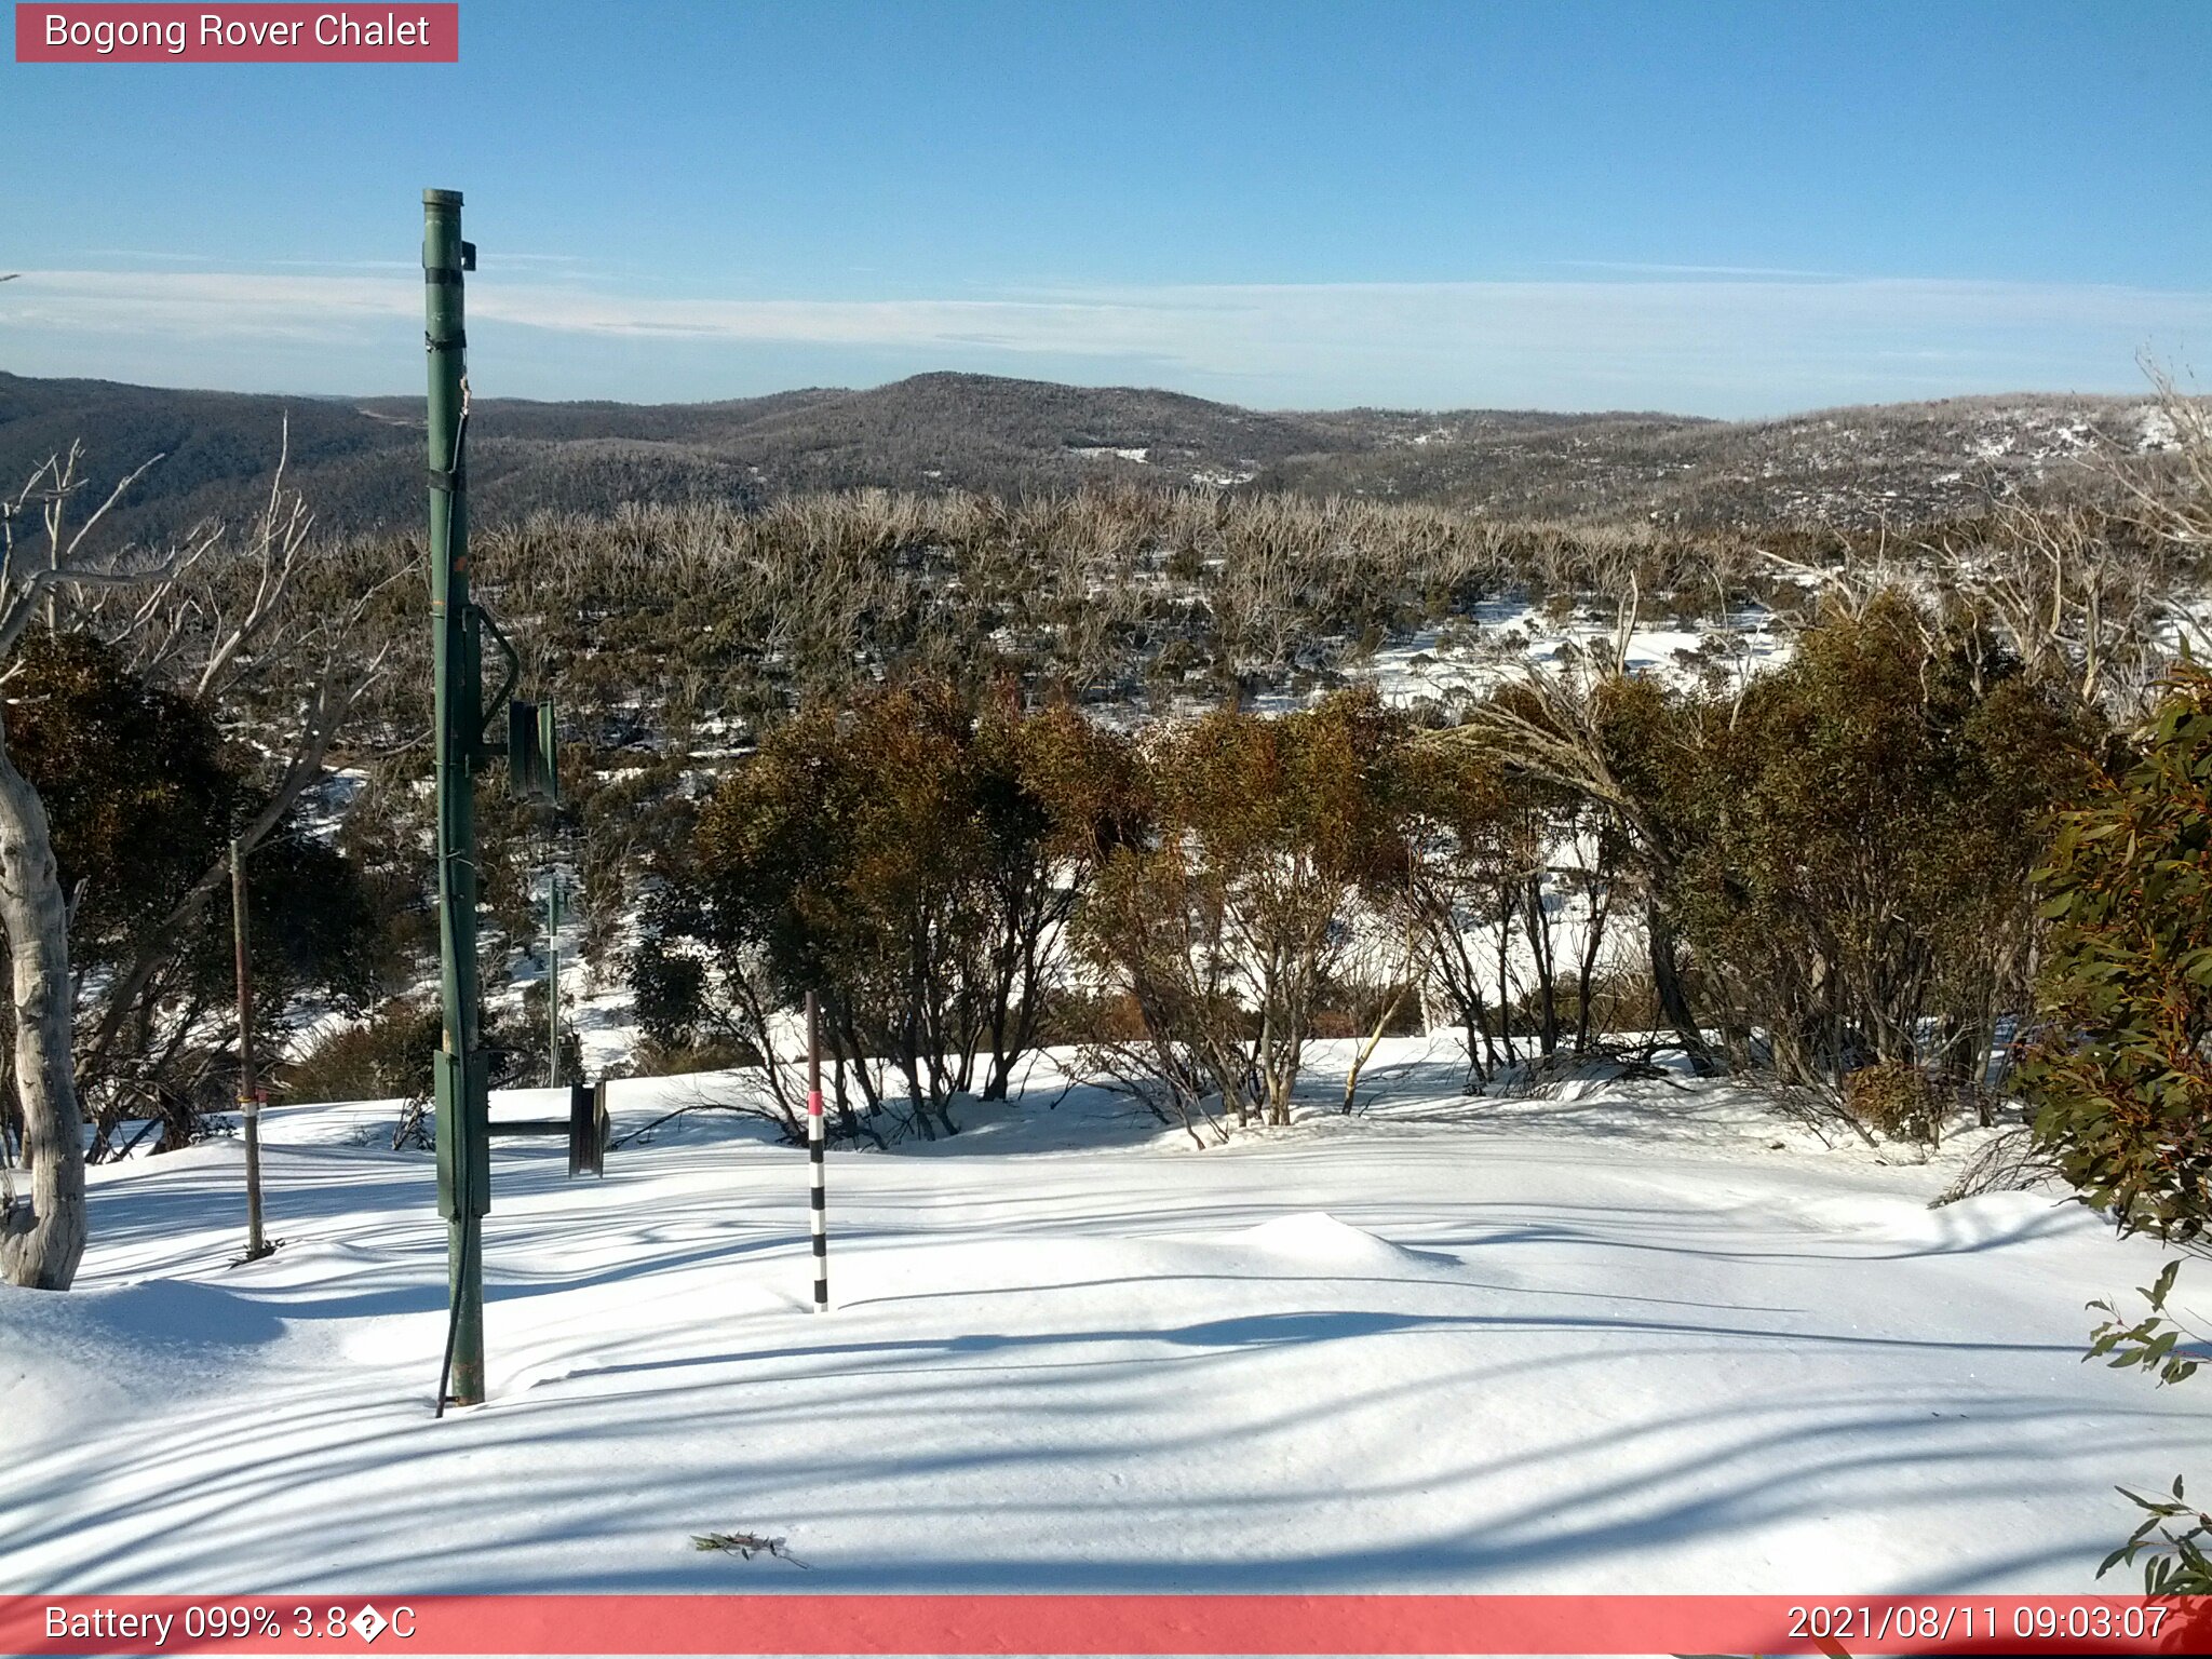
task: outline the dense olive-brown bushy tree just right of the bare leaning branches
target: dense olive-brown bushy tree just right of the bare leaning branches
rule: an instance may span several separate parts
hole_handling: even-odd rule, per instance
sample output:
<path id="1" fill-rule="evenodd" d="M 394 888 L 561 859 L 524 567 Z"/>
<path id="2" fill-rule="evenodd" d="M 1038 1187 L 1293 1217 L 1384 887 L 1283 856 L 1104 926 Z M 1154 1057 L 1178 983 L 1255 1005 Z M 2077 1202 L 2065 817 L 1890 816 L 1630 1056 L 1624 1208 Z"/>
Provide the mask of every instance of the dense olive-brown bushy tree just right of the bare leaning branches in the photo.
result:
<path id="1" fill-rule="evenodd" d="M 1787 1084 L 1878 1062 L 1978 1082 L 2024 1002 L 2026 876 L 2093 730 L 1971 633 L 1882 599 L 1697 712 L 1670 894 Z"/>

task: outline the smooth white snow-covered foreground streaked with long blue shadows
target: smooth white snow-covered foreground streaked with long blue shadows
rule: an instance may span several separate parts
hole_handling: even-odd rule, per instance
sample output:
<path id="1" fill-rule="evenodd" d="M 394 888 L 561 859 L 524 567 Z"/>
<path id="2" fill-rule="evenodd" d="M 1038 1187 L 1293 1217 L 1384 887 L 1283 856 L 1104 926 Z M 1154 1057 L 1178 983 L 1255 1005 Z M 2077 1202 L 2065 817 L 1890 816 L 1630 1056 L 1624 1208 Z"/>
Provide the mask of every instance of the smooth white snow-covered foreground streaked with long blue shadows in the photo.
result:
<path id="1" fill-rule="evenodd" d="M 389 1108 L 272 1108 L 252 1265 L 237 1144 L 97 1168 L 82 1287 L 0 1292 L 0 1590 L 2086 1593 L 2112 1486 L 2212 1462 L 2201 1387 L 2081 1365 L 2157 1252 L 2075 1206 L 1929 1210 L 1953 1155 L 1717 1088 L 1467 1099 L 1422 1040 L 1345 1119 L 1332 1057 L 1223 1148 L 1040 1077 L 834 1152 L 830 1314 L 759 1126 L 604 1181 L 498 1141 L 491 1400 L 442 1422 Z"/>

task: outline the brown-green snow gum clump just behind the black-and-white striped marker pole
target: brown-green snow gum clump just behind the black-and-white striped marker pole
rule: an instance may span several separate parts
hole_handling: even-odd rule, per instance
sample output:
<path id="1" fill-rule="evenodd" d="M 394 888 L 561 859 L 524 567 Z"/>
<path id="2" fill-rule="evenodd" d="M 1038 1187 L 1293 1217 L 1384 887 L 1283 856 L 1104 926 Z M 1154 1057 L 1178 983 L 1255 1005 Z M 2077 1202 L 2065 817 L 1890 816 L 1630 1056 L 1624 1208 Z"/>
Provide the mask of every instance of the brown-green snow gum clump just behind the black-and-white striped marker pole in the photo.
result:
<path id="1" fill-rule="evenodd" d="M 885 1062 L 907 1121 L 1002 1097 L 1062 967 L 1082 878 L 1128 814 L 1126 743 L 1073 710 L 1024 714 L 916 681 L 776 728 L 699 814 L 633 962 L 648 1035 L 774 1062 L 816 991 L 869 1113 Z M 796 1135 L 792 1082 L 770 1115 Z"/>

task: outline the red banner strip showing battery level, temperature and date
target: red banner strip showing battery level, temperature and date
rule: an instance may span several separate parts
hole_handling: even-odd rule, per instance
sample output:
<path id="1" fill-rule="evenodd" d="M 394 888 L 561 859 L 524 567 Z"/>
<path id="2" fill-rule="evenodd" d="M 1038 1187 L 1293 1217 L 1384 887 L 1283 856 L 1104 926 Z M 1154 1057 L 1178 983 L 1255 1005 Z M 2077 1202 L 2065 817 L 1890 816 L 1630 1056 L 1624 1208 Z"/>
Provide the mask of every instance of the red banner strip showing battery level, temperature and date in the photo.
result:
<path id="1" fill-rule="evenodd" d="M 2205 1652 L 2201 1597 L 58 1595 L 9 1655 Z"/>

